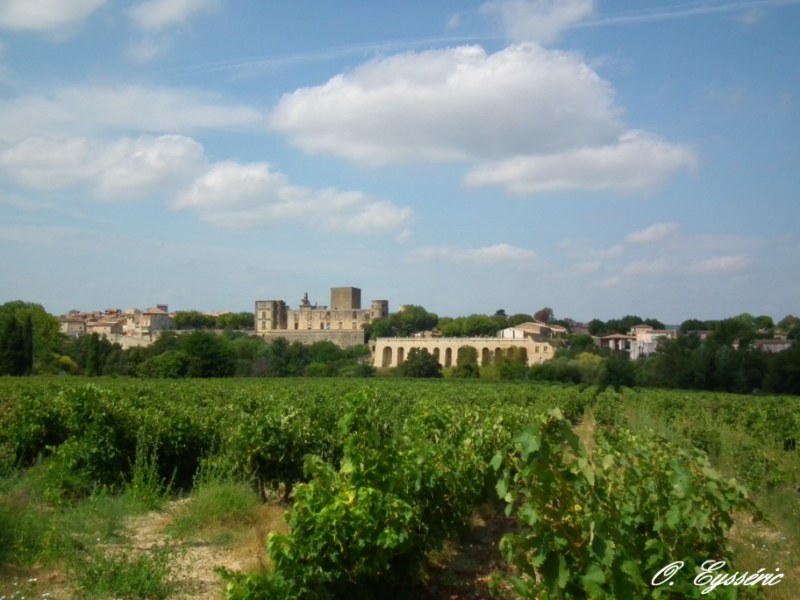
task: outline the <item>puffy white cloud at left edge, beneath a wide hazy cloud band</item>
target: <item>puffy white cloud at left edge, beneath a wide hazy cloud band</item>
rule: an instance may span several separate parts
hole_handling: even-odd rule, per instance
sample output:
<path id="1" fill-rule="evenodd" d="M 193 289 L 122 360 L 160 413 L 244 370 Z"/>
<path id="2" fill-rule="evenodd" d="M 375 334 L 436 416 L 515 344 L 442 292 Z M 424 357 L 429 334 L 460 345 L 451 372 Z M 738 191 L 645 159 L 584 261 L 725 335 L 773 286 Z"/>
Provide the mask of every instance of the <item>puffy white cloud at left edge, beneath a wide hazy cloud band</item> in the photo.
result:
<path id="1" fill-rule="evenodd" d="M 174 190 L 204 164 L 202 146 L 178 135 L 112 142 L 31 137 L 0 152 L 0 172 L 24 187 L 57 190 L 88 185 L 99 198 Z"/>

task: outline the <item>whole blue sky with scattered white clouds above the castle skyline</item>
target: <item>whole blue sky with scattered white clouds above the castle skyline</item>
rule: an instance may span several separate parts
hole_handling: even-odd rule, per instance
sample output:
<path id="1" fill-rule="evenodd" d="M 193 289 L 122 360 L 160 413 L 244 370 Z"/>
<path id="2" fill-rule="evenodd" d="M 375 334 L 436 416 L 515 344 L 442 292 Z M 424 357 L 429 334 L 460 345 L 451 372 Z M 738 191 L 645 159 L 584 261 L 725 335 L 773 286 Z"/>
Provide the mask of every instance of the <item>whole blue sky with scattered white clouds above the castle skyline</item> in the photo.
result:
<path id="1" fill-rule="evenodd" d="M 800 305 L 800 1 L 0 0 L 0 300 Z"/>

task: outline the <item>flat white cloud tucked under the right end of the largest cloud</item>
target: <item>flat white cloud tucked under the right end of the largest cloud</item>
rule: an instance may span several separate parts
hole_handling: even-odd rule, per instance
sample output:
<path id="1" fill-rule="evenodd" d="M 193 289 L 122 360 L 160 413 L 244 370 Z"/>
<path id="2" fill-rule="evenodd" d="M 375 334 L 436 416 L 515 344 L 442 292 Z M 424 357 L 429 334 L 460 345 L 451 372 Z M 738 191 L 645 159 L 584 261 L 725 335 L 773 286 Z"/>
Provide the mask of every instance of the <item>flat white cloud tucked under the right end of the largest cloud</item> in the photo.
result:
<path id="1" fill-rule="evenodd" d="M 652 191 L 676 170 L 694 165 L 691 148 L 630 132 L 612 144 L 485 163 L 472 169 L 465 182 L 498 185 L 518 195 L 581 190 L 631 194 Z"/>

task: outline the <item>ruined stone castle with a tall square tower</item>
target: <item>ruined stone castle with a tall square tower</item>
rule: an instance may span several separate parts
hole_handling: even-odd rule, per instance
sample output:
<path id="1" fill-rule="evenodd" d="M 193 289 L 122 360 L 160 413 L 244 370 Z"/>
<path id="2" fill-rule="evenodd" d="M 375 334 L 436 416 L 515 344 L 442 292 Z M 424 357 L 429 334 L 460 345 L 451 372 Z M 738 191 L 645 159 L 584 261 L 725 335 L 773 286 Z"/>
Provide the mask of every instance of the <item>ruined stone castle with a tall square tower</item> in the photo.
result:
<path id="1" fill-rule="evenodd" d="M 346 348 L 363 344 L 364 327 L 388 316 L 388 300 L 372 300 L 370 308 L 362 309 L 359 288 L 338 287 L 331 288 L 330 306 L 312 304 L 307 293 L 297 309 L 283 300 L 256 300 L 255 334 L 305 344 L 331 341 Z"/>

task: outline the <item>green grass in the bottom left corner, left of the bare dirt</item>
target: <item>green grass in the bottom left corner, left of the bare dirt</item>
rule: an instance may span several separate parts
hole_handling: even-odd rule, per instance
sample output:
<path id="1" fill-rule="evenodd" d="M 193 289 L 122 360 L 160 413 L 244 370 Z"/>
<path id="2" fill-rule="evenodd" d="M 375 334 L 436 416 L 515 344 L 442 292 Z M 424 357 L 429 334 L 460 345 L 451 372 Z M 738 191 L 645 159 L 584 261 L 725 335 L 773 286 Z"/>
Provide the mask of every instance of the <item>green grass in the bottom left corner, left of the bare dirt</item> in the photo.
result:
<path id="1" fill-rule="evenodd" d="M 124 542 L 131 516 L 154 502 L 156 488 L 139 469 L 146 494 L 146 486 L 98 489 L 69 501 L 54 501 L 53 482 L 62 475 L 49 461 L 0 479 L 0 598 L 47 598 L 70 587 L 81 598 L 166 598 L 163 552 L 104 554 Z"/>

